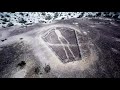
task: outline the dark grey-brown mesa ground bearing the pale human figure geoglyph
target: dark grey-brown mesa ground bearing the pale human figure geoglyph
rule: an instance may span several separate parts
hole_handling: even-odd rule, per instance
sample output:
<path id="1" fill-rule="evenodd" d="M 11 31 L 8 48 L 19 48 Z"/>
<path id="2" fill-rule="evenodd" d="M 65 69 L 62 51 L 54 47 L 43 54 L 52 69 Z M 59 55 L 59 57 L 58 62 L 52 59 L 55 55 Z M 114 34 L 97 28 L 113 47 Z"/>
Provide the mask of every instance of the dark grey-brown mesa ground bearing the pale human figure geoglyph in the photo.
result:
<path id="1" fill-rule="evenodd" d="M 0 77 L 118 78 L 120 23 L 74 18 L 1 28 Z"/>

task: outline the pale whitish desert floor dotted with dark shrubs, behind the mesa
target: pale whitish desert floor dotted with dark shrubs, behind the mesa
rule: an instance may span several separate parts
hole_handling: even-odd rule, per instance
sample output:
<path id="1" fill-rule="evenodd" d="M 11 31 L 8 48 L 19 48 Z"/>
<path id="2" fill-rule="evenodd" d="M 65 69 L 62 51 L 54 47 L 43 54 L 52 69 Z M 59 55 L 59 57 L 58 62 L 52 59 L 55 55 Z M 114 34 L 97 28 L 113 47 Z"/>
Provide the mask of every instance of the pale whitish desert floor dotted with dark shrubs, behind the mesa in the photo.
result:
<path id="1" fill-rule="evenodd" d="M 120 19 L 120 12 L 0 12 L 0 27 L 28 26 L 34 23 L 51 23 L 55 20 L 82 17 Z"/>

